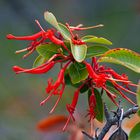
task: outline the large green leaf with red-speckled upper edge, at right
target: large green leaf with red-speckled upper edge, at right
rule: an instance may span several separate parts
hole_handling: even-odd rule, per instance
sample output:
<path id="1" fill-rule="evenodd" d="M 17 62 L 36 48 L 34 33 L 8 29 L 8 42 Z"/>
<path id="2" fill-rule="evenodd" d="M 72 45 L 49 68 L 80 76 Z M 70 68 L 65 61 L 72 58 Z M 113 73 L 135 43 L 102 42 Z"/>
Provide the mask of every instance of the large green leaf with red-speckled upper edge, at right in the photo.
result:
<path id="1" fill-rule="evenodd" d="M 98 59 L 98 62 L 120 64 L 140 73 L 140 54 L 125 48 L 116 48 L 107 51 Z"/>

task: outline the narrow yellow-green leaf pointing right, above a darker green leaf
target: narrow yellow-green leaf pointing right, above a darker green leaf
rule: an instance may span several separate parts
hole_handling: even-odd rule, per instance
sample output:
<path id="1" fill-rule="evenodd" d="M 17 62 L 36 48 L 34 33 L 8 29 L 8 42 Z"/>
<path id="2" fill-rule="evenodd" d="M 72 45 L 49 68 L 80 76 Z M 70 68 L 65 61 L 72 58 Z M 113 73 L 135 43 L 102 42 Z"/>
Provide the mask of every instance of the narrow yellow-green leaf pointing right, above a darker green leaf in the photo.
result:
<path id="1" fill-rule="evenodd" d="M 105 44 L 105 45 L 112 45 L 112 42 L 103 38 L 103 37 L 96 37 L 96 36 L 85 36 L 82 40 L 86 43 L 98 43 L 98 44 Z"/>

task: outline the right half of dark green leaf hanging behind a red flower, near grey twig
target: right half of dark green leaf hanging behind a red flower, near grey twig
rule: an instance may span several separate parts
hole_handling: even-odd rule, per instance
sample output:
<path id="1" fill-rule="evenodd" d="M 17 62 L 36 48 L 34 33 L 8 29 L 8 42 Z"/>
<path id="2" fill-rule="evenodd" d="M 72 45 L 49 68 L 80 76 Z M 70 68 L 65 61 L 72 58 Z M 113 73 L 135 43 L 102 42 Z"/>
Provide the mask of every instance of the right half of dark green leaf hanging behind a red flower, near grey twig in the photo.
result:
<path id="1" fill-rule="evenodd" d="M 104 106 L 102 102 L 102 97 L 101 97 L 100 92 L 97 89 L 94 89 L 94 93 L 95 93 L 95 98 L 96 98 L 96 107 L 95 107 L 96 119 L 100 122 L 103 122 Z"/>

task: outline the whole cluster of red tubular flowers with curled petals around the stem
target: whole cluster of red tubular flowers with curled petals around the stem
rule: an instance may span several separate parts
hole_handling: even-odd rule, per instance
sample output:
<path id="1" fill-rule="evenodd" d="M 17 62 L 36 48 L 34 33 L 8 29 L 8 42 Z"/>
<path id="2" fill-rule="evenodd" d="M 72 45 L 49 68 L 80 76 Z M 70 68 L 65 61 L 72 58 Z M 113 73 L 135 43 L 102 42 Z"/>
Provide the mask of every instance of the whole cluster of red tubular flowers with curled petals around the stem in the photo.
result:
<path id="1" fill-rule="evenodd" d="M 55 64 L 60 63 L 60 71 L 58 74 L 57 80 L 54 82 L 52 78 L 48 79 L 48 86 L 46 87 L 46 93 L 48 93 L 48 96 L 45 100 L 43 100 L 40 105 L 44 105 L 52 95 L 57 95 L 58 99 L 51 109 L 50 113 L 52 113 L 56 106 L 58 105 L 66 86 L 65 83 L 65 72 L 66 70 L 69 70 L 69 66 L 76 62 L 76 60 L 73 57 L 73 54 L 71 52 L 71 49 L 66 45 L 63 34 L 61 34 L 60 31 L 57 31 L 56 29 L 48 29 L 45 31 L 40 23 L 36 20 L 37 25 L 40 27 L 41 31 L 31 35 L 31 36 L 22 36 L 17 37 L 14 35 L 7 35 L 7 39 L 15 39 L 15 40 L 27 40 L 31 41 L 29 46 L 23 50 L 16 51 L 16 53 L 28 51 L 27 54 L 25 54 L 23 57 L 29 56 L 36 48 L 41 44 L 55 44 L 56 46 L 60 46 L 61 49 L 67 51 L 67 53 L 63 53 L 62 51 L 55 53 L 50 57 L 48 60 L 46 60 L 43 64 L 41 64 L 38 67 L 31 68 L 31 69 L 24 69 L 19 66 L 14 66 L 13 70 L 16 74 L 19 73 L 30 73 L 30 74 L 44 74 L 47 73 L 49 70 L 51 70 Z M 95 28 L 95 27 L 101 27 L 102 25 L 82 28 L 82 25 L 78 25 L 76 27 L 69 26 L 68 23 L 66 23 L 66 28 L 69 31 L 69 34 L 71 36 L 71 39 L 69 40 L 69 44 L 72 43 L 74 45 L 83 45 L 86 44 L 82 39 L 78 37 L 78 35 L 74 35 L 73 31 L 81 31 L 85 29 Z M 78 62 L 77 62 L 78 63 Z M 102 93 L 105 91 L 108 97 L 112 100 L 113 103 L 118 105 L 115 101 L 115 98 L 117 97 L 115 93 L 112 93 L 107 86 L 107 82 L 112 84 L 112 87 L 120 93 L 120 95 L 128 100 L 129 102 L 135 104 L 130 98 L 128 98 L 124 92 L 128 92 L 130 94 L 135 93 L 129 89 L 128 86 L 137 86 L 133 84 L 131 81 L 128 80 L 128 77 L 125 74 L 118 74 L 113 69 L 108 68 L 106 66 L 99 65 L 99 63 L 96 60 L 96 57 L 92 57 L 92 63 L 88 63 L 87 61 L 82 61 L 81 64 L 83 64 L 86 68 L 87 77 L 85 79 L 80 80 L 80 86 L 76 89 L 74 92 L 74 96 L 72 99 L 71 104 L 67 104 L 66 108 L 69 112 L 68 120 L 63 128 L 63 130 L 66 129 L 69 121 L 72 119 L 75 120 L 73 114 L 78 102 L 78 97 L 81 92 L 81 89 L 87 85 L 88 90 L 90 91 L 91 95 L 89 96 L 89 109 L 88 109 L 88 116 L 89 120 L 92 120 L 96 117 L 96 111 L 95 108 L 98 105 L 95 97 L 94 90 L 101 88 Z M 122 84 L 122 85 L 121 85 Z"/>

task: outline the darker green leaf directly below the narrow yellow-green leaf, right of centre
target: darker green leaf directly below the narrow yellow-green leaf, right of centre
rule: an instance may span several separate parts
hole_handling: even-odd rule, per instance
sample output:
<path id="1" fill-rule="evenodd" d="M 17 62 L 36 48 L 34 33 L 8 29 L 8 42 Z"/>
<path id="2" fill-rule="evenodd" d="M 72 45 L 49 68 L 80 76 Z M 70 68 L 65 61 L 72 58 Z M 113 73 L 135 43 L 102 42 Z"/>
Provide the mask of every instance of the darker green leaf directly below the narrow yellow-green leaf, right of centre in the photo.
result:
<path id="1" fill-rule="evenodd" d="M 87 55 L 86 58 L 100 56 L 107 52 L 109 49 L 105 46 L 89 46 L 87 48 Z"/>

